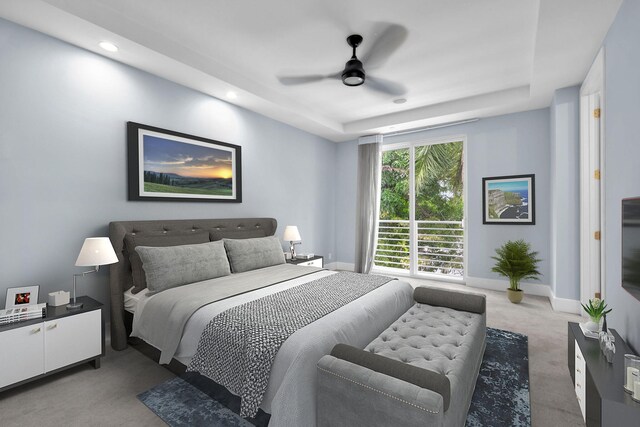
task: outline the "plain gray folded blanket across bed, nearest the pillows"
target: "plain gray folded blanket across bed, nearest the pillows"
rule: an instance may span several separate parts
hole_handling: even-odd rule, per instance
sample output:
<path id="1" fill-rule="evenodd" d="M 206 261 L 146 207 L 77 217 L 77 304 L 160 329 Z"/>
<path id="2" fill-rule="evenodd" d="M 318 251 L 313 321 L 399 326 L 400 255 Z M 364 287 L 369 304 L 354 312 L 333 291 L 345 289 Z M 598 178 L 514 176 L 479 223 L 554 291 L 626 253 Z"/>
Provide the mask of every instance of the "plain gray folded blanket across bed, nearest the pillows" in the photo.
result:
<path id="1" fill-rule="evenodd" d="M 199 308 L 319 270 L 316 267 L 280 264 L 167 289 L 149 299 L 143 315 L 134 322 L 131 335 L 139 336 L 138 331 L 144 331 L 145 339 L 161 350 L 160 363 L 169 363 L 180 344 L 187 321 Z"/>

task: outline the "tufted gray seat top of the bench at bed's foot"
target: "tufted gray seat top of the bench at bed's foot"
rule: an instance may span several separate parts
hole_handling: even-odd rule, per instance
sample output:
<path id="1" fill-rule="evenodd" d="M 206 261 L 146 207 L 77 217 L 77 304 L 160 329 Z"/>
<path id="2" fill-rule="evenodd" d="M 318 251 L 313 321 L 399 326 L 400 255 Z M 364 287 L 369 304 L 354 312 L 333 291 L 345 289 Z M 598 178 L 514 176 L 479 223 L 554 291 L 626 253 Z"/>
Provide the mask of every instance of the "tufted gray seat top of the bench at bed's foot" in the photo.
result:
<path id="1" fill-rule="evenodd" d="M 464 374 L 467 357 L 482 350 L 474 348 L 484 341 L 479 334 L 484 334 L 480 314 L 416 303 L 365 351 L 429 369 L 453 382 Z"/>

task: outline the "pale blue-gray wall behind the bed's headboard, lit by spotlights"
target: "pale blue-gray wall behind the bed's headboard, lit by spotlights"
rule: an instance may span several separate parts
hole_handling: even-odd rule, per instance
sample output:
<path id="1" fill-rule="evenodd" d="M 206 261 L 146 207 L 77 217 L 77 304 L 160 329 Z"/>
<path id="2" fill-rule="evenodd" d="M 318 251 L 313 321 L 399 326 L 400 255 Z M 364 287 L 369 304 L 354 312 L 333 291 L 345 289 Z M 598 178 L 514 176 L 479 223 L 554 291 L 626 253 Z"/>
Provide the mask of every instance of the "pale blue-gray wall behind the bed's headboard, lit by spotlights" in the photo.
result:
<path id="1" fill-rule="evenodd" d="M 269 216 L 335 257 L 336 144 L 4 20 L 0 58 L 0 307 L 8 287 L 69 290 L 113 220 Z M 241 145 L 244 202 L 127 201 L 129 120 Z M 79 294 L 107 303 L 107 271 Z"/>

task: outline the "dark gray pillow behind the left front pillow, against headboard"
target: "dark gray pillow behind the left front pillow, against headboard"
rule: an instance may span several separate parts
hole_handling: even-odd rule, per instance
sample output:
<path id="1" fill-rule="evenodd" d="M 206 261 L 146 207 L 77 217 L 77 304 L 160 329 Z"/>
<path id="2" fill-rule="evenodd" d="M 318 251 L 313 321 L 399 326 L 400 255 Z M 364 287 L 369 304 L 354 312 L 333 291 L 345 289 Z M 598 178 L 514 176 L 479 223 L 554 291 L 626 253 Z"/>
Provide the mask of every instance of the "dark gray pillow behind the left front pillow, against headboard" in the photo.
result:
<path id="1" fill-rule="evenodd" d="M 162 234 L 127 234 L 124 236 L 124 245 L 129 255 L 131 263 L 131 277 L 133 278 L 133 289 L 131 293 L 137 294 L 147 287 L 147 280 L 142 269 L 140 255 L 136 252 L 136 246 L 178 246 L 193 245 L 196 243 L 206 243 L 209 241 L 209 232 L 206 230 L 195 230 L 188 232 L 167 232 Z"/>

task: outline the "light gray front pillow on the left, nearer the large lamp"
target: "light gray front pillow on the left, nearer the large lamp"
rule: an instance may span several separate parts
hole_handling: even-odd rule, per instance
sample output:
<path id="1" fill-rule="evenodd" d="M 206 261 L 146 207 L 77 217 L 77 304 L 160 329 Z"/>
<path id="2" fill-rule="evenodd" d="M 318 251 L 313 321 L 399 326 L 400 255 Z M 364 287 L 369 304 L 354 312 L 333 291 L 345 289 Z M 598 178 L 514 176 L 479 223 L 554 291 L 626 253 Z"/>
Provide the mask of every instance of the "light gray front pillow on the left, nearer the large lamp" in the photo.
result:
<path id="1" fill-rule="evenodd" d="M 147 295 L 231 274 L 222 242 L 155 248 L 138 246 L 147 276 Z"/>

